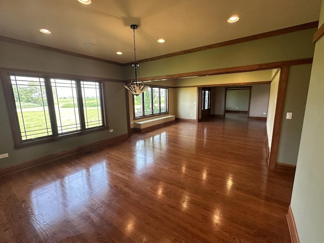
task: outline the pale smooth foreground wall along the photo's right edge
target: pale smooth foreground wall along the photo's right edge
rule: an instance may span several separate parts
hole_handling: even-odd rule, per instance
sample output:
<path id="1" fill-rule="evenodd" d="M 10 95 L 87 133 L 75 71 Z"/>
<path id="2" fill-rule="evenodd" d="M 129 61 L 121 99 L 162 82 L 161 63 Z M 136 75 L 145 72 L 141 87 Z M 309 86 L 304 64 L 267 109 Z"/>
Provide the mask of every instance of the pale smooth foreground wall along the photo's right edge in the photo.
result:
<path id="1" fill-rule="evenodd" d="M 319 26 L 324 23 L 322 1 Z M 301 243 L 324 242 L 324 37 L 315 45 L 291 207 Z"/>

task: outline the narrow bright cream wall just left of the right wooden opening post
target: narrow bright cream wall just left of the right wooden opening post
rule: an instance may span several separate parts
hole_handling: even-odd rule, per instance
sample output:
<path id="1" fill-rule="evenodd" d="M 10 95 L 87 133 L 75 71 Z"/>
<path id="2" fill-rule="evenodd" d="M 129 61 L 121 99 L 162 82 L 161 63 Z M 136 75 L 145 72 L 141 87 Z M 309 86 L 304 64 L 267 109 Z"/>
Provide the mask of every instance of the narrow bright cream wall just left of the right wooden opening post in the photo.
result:
<path id="1" fill-rule="evenodd" d="M 272 142 L 274 115 L 275 115 L 275 108 L 277 105 L 279 77 L 280 77 L 280 71 L 278 71 L 277 75 L 273 78 L 270 85 L 268 116 L 267 116 L 267 134 L 268 134 L 269 149 L 271 149 L 271 142 Z"/>

